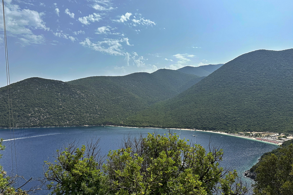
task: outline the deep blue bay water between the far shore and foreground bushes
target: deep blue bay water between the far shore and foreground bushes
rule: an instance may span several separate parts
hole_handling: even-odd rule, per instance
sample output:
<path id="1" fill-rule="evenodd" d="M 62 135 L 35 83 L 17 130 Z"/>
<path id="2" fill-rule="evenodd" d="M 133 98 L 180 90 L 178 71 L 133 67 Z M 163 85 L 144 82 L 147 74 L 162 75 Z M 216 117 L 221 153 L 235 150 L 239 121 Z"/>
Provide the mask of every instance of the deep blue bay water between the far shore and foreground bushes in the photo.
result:
<path id="1" fill-rule="evenodd" d="M 17 156 L 17 172 L 18 175 L 23 175 L 25 178 L 42 177 L 42 165 L 44 160 L 62 147 L 62 144 L 71 143 L 74 140 L 79 141 L 80 145 L 84 144 L 91 137 L 100 138 L 100 147 L 103 154 L 107 154 L 109 150 L 118 148 L 123 137 L 128 134 L 132 136 L 143 133 L 153 133 L 155 129 L 148 128 L 127 128 L 127 127 L 112 127 L 112 126 L 94 126 L 94 127 L 59 127 L 59 128 L 32 128 L 32 129 L 15 129 L 15 148 Z M 179 134 L 179 130 L 173 130 Z M 166 133 L 166 129 L 156 129 L 159 134 Z M 13 133 L 13 132 L 12 132 Z M 276 149 L 278 146 L 244 139 L 224 134 L 187 131 L 181 130 L 181 139 L 189 139 L 196 144 L 201 144 L 204 148 L 208 148 L 209 141 L 211 144 L 220 145 L 224 150 L 224 159 L 222 166 L 232 167 L 236 169 L 239 175 L 251 168 L 260 156 L 265 152 Z M 13 158 L 13 173 L 16 174 L 14 142 L 12 141 L 12 151 L 10 140 L 10 130 L 0 129 L 0 137 L 6 141 L 3 144 L 6 149 L 2 152 L 3 156 L 0 159 L 0 164 L 7 173 L 12 170 Z M 12 134 L 13 138 L 13 134 Z M 249 184 L 252 180 L 243 178 Z M 30 183 L 30 185 L 37 182 Z M 47 191 L 39 191 L 37 194 L 48 194 Z"/>

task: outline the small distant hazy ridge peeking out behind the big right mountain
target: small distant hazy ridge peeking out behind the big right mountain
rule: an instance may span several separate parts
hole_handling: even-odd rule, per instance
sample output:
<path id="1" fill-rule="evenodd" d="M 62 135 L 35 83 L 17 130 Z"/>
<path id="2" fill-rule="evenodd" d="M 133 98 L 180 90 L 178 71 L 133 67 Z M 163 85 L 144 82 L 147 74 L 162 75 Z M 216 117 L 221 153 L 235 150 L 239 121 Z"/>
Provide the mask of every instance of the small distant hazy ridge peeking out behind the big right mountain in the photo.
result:
<path id="1" fill-rule="evenodd" d="M 178 69 L 177 71 L 181 71 L 186 74 L 192 74 L 197 76 L 208 76 L 213 71 L 217 70 L 223 65 L 224 64 L 209 64 L 209 65 L 198 66 L 198 67 L 185 66 L 183 68 Z"/>

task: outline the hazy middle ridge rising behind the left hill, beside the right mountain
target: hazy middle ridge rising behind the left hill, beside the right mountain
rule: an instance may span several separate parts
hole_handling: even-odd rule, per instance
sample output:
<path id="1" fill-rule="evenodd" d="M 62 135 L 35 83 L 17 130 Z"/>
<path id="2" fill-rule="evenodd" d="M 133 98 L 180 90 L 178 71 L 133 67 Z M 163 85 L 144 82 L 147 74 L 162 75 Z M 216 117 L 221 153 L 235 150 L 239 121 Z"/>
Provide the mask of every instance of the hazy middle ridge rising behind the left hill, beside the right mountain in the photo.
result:
<path id="1" fill-rule="evenodd" d="M 151 74 L 137 72 L 126 76 L 92 76 L 67 83 L 99 90 L 100 85 L 103 85 L 104 82 L 111 82 L 143 98 L 150 105 L 178 95 L 182 92 L 182 85 L 185 86 L 184 90 L 186 90 L 201 79 L 199 76 L 180 71 L 160 69 Z"/>

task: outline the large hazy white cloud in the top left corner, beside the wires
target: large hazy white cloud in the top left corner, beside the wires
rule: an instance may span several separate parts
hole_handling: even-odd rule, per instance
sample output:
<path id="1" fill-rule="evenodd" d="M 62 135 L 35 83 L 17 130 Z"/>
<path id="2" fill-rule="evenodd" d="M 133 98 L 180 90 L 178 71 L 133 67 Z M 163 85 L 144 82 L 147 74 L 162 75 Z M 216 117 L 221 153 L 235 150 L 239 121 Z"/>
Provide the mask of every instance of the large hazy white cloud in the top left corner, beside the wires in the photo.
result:
<path id="1" fill-rule="evenodd" d="M 23 46 L 44 43 L 44 36 L 36 35 L 34 31 L 37 29 L 49 30 L 42 19 L 45 14 L 30 9 L 21 9 L 11 2 L 6 1 L 4 5 L 7 36 L 18 35 Z M 0 26 L 0 29 L 3 29 L 3 26 Z"/>

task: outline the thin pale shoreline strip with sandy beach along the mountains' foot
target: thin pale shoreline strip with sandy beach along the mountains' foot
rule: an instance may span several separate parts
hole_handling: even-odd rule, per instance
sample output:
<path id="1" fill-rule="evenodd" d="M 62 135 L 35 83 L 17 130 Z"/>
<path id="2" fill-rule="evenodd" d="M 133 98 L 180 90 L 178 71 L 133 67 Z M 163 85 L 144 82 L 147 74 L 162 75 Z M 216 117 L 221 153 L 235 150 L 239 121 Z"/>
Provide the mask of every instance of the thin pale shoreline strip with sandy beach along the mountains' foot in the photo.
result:
<path id="1" fill-rule="evenodd" d="M 77 126 L 77 125 L 72 125 L 72 126 L 47 126 L 47 127 L 15 127 L 14 129 L 30 129 L 30 128 L 55 128 L 55 127 L 95 127 L 95 126 L 110 126 L 110 127 L 125 127 L 127 128 L 127 126 L 118 126 L 118 125 L 83 125 L 83 126 Z M 156 128 L 156 127 L 128 127 L 128 128 L 144 128 L 144 129 L 175 129 L 175 130 L 180 130 L 179 128 Z M 0 128 L 0 129 L 13 129 L 13 128 Z M 272 142 L 268 142 L 268 141 L 263 141 L 263 140 L 258 140 L 256 138 L 248 138 L 248 137 L 243 137 L 243 136 L 238 136 L 238 135 L 231 135 L 225 132 L 220 132 L 220 131 L 208 131 L 208 130 L 192 130 L 192 129 L 181 129 L 181 130 L 187 130 L 187 131 L 201 131 L 201 132 L 206 132 L 206 133 L 216 133 L 216 134 L 225 134 L 225 135 L 230 135 L 230 136 L 234 136 L 234 137 L 240 137 L 240 138 L 244 138 L 244 139 L 252 139 L 255 141 L 259 141 L 259 142 L 264 142 L 264 143 L 268 143 L 268 144 L 273 144 L 273 145 L 281 145 L 282 143 L 279 144 L 275 144 Z"/>

